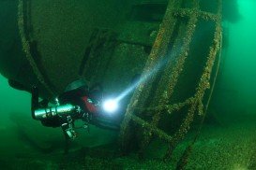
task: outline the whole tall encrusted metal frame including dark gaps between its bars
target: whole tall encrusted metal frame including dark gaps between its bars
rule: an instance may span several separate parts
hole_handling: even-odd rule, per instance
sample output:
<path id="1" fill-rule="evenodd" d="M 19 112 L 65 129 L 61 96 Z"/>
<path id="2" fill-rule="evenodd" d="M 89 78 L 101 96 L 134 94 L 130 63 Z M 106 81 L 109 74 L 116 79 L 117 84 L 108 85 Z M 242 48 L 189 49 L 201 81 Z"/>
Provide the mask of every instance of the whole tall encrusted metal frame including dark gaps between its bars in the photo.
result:
<path id="1" fill-rule="evenodd" d="M 208 105 L 207 99 L 203 104 L 205 101 L 205 99 L 203 101 L 203 97 L 205 98 L 205 91 L 210 88 L 212 70 L 222 38 L 221 3 L 219 0 L 217 13 L 210 13 L 203 11 L 197 0 L 191 1 L 190 7 L 182 7 L 182 1 L 170 0 L 143 74 L 148 75 L 161 61 L 165 61 L 165 65 L 164 68 L 161 68 L 162 70 L 150 75 L 149 80 L 141 84 L 134 92 L 122 124 L 123 149 L 129 149 L 128 143 L 130 140 L 134 140 L 134 134 L 140 136 L 139 148 L 142 152 L 149 145 L 152 137 L 157 136 L 169 143 L 169 149 L 164 158 L 170 158 L 177 143 L 187 134 L 195 115 L 199 114 L 203 117 Z M 193 35 L 196 29 L 203 31 L 203 27 L 200 28 L 203 26 L 202 23 L 200 24 L 202 21 L 213 22 L 215 29 L 212 30 L 214 34 L 212 44 L 208 47 L 208 53 L 203 53 L 202 50 L 200 53 L 200 58 L 205 58 L 205 61 L 201 63 L 203 69 L 201 73 L 194 74 L 193 69 L 198 68 L 187 63 L 190 62 L 188 58 L 191 58 L 190 60 L 194 61 L 195 65 L 197 65 L 197 60 L 200 60 L 199 56 L 193 55 L 191 45 L 193 45 Z M 173 34 L 177 35 L 173 36 Z M 208 35 L 211 33 L 209 32 Z M 173 37 L 174 39 L 172 39 Z M 194 81 L 196 86 L 191 83 L 184 85 L 187 82 L 184 78 L 189 77 L 196 78 L 192 78 L 196 80 Z M 184 98 L 179 95 L 183 95 L 183 91 L 192 93 L 191 95 L 187 94 L 188 97 Z M 173 120 L 175 118 L 173 114 L 179 114 L 178 117 L 181 118 Z M 180 123 L 173 127 L 172 123 L 174 124 L 175 121 Z M 175 130 L 173 131 L 173 129 Z"/>

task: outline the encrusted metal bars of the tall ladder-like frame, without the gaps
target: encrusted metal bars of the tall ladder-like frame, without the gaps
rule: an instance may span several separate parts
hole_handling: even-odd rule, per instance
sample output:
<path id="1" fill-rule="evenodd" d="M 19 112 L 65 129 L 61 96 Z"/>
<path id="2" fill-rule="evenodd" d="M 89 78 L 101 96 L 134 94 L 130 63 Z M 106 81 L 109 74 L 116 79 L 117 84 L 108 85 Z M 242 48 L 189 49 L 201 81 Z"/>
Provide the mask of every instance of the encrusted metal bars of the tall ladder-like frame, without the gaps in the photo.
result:
<path id="1" fill-rule="evenodd" d="M 154 74 L 147 84 L 140 85 L 136 92 L 133 94 L 130 105 L 126 113 L 125 120 L 122 123 L 121 131 L 121 142 L 122 147 L 126 148 L 126 143 L 128 140 L 130 121 L 134 121 L 143 128 L 143 141 L 142 141 L 142 150 L 148 145 L 152 135 L 157 135 L 159 138 L 167 141 L 170 144 L 169 149 L 165 154 L 165 158 L 170 158 L 173 153 L 173 149 L 178 144 L 178 142 L 188 133 L 190 128 L 190 123 L 193 121 L 196 112 L 199 115 L 203 115 L 205 112 L 203 106 L 203 96 L 204 92 L 210 88 L 210 78 L 213 70 L 213 65 L 216 61 L 216 56 L 220 50 L 220 41 L 221 41 L 221 9 L 222 9 L 222 0 L 218 0 L 218 13 L 213 14 L 209 12 L 204 12 L 200 10 L 199 1 L 193 1 L 192 8 L 179 8 L 180 5 L 176 4 L 177 1 L 171 0 L 165 18 L 160 26 L 157 40 L 155 42 L 154 48 L 149 55 L 147 64 L 144 68 L 143 74 L 148 73 L 154 68 L 154 63 L 158 62 L 158 59 L 163 58 L 167 55 L 168 44 L 170 43 L 171 35 L 173 33 L 173 25 L 176 24 L 177 17 L 188 18 L 187 32 L 182 37 L 182 49 L 178 53 L 173 53 L 169 56 L 170 60 L 167 60 L 167 65 L 164 67 L 164 71 L 161 72 L 160 79 L 158 82 L 158 88 L 155 92 L 154 99 L 156 106 L 150 106 L 148 108 L 143 108 L 144 102 L 147 100 L 148 94 L 151 90 L 152 83 L 154 82 L 156 75 Z M 183 71 L 184 64 L 186 64 L 186 59 L 189 54 L 189 45 L 191 43 L 192 36 L 195 32 L 197 21 L 201 19 L 203 21 L 214 21 L 215 22 L 215 34 L 213 39 L 213 44 L 210 47 L 208 56 L 205 56 L 206 62 L 203 68 L 202 76 L 198 82 L 196 92 L 193 96 L 188 97 L 182 103 L 170 105 L 170 99 L 173 96 L 173 91 L 177 81 Z M 170 29 L 171 28 L 171 29 Z M 169 31 L 168 31 L 169 30 Z M 179 39 L 180 40 L 180 39 Z M 173 51 L 176 51 L 175 42 L 178 40 L 175 39 L 173 43 Z M 193 57 L 193 56 L 189 56 Z M 152 98 L 152 97 L 151 97 Z M 154 103 L 154 102 L 153 102 Z M 164 118 L 167 114 L 173 114 L 174 110 L 180 110 L 188 106 L 188 111 L 185 119 L 180 124 L 179 129 L 171 135 L 163 130 L 158 129 L 158 122 L 161 118 Z M 139 114 L 138 114 L 139 111 Z M 137 113 L 135 114 L 133 113 Z M 152 121 L 143 120 L 143 113 L 153 112 Z M 141 115 L 140 115 L 141 113 Z M 140 118 L 142 117 L 142 118 Z"/>

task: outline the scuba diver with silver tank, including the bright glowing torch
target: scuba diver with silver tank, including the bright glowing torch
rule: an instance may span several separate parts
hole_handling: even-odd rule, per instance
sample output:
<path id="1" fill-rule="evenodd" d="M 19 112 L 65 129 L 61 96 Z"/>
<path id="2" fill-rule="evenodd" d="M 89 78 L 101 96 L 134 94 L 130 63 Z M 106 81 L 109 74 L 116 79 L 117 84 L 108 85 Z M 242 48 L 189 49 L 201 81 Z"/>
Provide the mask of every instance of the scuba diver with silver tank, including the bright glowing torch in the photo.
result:
<path id="1" fill-rule="evenodd" d="M 124 92 L 126 95 L 121 93 L 113 99 L 106 100 L 99 83 L 89 88 L 85 80 L 78 79 L 70 83 L 65 91 L 55 98 L 53 104 L 53 101 L 47 99 L 39 101 L 37 86 L 29 90 L 14 80 L 8 80 L 11 87 L 32 93 L 31 111 L 34 120 L 40 120 L 46 127 L 61 127 L 66 139 L 65 153 L 68 153 L 71 141 L 78 136 L 78 129 L 89 132 L 90 125 L 95 125 L 102 129 L 119 131 L 124 114 L 115 113 L 124 111 L 131 97 L 129 95 L 140 82 L 141 75 L 135 75 L 130 81 L 129 88 Z M 124 96 L 126 99 L 123 99 Z M 119 103 L 120 100 L 123 100 L 122 103 Z M 76 120 L 82 120 L 83 125 L 80 121 L 80 126 L 77 127 Z"/>

